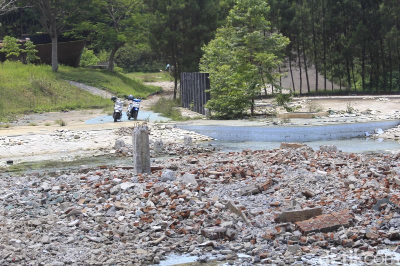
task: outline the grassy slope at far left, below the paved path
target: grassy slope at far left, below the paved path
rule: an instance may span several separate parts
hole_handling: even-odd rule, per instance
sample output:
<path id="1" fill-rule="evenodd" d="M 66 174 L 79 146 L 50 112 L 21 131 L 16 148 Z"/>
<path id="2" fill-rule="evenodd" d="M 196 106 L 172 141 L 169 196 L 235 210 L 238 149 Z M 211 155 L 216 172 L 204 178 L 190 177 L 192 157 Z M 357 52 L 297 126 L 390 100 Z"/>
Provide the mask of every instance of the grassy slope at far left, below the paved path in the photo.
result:
<path id="1" fill-rule="evenodd" d="M 46 65 L 0 63 L 0 121 L 37 112 L 104 108 L 108 99 L 92 95 L 60 79 Z"/>

